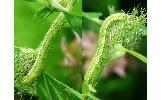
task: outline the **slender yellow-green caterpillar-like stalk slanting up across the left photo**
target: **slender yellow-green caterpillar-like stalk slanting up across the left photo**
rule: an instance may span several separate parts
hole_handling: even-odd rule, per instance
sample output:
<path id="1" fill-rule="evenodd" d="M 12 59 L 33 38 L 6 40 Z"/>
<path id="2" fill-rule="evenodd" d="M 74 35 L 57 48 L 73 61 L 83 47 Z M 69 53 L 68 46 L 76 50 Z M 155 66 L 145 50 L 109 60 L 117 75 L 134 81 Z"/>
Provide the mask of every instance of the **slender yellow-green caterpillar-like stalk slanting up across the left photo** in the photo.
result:
<path id="1" fill-rule="evenodd" d="M 66 9 L 70 11 L 72 9 L 73 2 L 68 2 Z M 22 83 L 28 84 L 35 81 L 44 71 L 49 57 L 51 48 L 55 44 L 55 40 L 62 30 L 64 24 L 66 23 L 66 18 L 63 12 L 61 12 L 58 17 L 54 20 L 48 32 L 46 33 L 44 40 L 38 48 L 38 56 L 34 63 L 34 66 L 30 69 L 29 73 L 23 78 Z"/>

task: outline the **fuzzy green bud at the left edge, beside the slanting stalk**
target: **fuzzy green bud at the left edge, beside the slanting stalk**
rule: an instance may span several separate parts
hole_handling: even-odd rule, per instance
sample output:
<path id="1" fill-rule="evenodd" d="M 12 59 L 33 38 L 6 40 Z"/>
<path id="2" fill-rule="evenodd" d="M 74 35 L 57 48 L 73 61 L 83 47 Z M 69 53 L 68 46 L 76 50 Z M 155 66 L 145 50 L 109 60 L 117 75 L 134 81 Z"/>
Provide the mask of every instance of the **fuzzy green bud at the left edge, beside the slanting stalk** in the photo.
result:
<path id="1" fill-rule="evenodd" d="M 20 90 L 30 90 L 36 81 L 23 84 L 23 78 L 33 67 L 37 57 L 37 51 L 30 48 L 14 47 L 14 85 Z"/>

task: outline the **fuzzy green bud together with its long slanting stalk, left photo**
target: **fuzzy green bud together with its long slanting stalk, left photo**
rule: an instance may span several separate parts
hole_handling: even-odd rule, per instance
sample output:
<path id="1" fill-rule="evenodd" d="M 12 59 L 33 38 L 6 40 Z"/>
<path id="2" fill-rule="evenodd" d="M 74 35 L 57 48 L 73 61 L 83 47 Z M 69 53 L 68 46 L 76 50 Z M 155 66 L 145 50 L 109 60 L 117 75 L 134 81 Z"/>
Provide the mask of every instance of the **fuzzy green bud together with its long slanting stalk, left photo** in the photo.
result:
<path id="1" fill-rule="evenodd" d="M 66 2 L 65 8 L 70 11 L 73 4 L 74 1 L 69 0 Z M 51 48 L 55 44 L 57 35 L 62 30 L 64 23 L 66 23 L 65 15 L 60 12 L 36 50 L 14 48 L 15 87 L 28 90 L 33 84 L 36 84 L 36 80 L 44 72 Z"/>

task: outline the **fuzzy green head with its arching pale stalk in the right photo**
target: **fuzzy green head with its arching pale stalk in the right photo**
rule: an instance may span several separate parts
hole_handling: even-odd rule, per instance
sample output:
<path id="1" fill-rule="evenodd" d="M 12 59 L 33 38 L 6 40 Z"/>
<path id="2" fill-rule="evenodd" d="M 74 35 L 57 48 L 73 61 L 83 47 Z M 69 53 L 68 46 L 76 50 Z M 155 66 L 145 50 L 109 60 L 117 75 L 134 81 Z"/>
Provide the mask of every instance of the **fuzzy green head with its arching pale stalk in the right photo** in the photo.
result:
<path id="1" fill-rule="evenodd" d="M 94 87 L 104 66 L 125 54 L 126 49 L 136 50 L 145 34 L 145 14 L 117 13 L 106 18 L 99 31 L 98 46 L 84 76 L 83 88 Z M 126 48 L 126 49 L 125 49 Z M 85 86 L 86 85 L 86 86 Z M 83 93 L 88 91 L 83 89 Z"/>

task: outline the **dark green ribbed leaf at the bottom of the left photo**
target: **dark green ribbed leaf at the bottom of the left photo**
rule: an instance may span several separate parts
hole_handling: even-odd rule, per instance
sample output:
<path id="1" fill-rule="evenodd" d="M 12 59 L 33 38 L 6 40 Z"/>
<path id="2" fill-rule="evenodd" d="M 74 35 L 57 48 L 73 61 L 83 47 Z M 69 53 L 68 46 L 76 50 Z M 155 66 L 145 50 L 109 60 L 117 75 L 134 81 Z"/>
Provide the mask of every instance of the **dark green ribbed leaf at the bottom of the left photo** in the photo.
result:
<path id="1" fill-rule="evenodd" d="M 48 98 L 47 100 L 82 99 L 79 92 L 71 89 L 48 74 L 44 74 L 43 76 L 44 77 L 40 80 L 41 82 L 38 86 L 39 88 L 40 86 L 45 88 L 45 91 L 48 93 L 48 97 L 46 97 Z M 41 91 L 41 88 L 37 91 Z M 38 95 L 41 96 L 41 94 Z"/>

